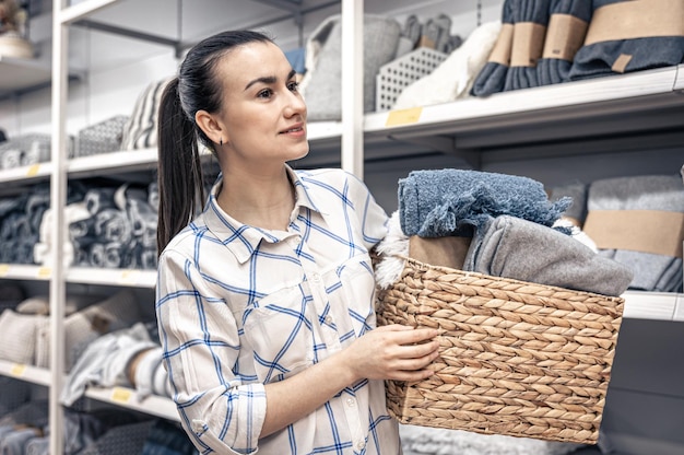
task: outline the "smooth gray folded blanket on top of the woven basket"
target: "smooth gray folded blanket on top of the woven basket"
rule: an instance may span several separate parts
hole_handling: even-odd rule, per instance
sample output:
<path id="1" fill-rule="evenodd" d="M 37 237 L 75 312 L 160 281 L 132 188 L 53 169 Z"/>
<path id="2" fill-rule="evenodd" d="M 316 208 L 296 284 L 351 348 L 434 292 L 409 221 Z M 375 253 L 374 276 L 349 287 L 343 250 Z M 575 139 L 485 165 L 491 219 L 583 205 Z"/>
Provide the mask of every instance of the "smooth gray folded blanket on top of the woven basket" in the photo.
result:
<path id="1" fill-rule="evenodd" d="M 628 267 L 571 236 L 509 215 L 477 230 L 463 269 L 603 295 L 622 294 L 633 278 Z"/>

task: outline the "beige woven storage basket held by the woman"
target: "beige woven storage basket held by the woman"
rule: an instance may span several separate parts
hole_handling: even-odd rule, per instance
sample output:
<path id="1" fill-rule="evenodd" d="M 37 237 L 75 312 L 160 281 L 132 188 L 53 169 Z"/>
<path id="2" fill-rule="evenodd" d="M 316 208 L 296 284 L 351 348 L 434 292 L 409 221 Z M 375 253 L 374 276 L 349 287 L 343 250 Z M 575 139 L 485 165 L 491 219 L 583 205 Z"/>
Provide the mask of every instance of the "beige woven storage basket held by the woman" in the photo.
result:
<path id="1" fill-rule="evenodd" d="M 436 327 L 435 374 L 387 381 L 400 422 L 593 444 L 624 301 L 405 259 L 378 324 Z"/>

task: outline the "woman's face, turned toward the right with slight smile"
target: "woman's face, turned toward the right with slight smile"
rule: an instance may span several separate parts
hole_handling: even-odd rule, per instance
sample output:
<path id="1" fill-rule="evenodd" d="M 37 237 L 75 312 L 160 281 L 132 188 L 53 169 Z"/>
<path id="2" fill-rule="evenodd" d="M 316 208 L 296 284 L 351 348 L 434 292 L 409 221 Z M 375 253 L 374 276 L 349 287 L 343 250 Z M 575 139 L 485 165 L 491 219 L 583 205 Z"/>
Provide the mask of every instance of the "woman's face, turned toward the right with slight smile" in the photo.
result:
<path id="1" fill-rule="evenodd" d="M 250 43 L 227 52 L 219 63 L 223 84 L 217 121 L 224 150 L 249 163 L 296 160 L 309 151 L 306 104 L 295 71 L 272 43 Z"/>

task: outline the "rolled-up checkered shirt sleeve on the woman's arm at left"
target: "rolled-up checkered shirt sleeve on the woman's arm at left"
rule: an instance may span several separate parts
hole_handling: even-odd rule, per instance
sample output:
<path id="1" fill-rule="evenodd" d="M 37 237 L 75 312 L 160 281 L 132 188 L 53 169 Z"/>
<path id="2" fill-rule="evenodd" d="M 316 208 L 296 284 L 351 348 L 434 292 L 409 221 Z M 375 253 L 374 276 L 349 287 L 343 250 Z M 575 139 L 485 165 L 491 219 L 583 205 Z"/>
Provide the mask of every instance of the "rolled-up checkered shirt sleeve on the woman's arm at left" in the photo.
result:
<path id="1" fill-rule="evenodd" d="M 237 324 L 193 261 L 176 250 L 160 258 L 156 316 L 164 364 L 180 423 L 202 454 L 251 454 L 266 418 L 262 384 L 233 373 Z"/>

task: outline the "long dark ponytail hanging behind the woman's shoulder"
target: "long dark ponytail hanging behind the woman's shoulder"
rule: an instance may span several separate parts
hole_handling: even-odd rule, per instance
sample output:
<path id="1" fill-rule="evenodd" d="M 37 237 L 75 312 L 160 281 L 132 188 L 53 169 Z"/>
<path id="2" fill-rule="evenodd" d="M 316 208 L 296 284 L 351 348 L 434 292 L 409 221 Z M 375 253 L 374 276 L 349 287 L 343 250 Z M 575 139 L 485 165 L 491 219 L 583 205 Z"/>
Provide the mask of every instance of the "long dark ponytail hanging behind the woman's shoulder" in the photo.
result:
<path id="1" fill-rule="evenodd" d="M 194 124 L 182 112 L 178 78 L 162 94 L 158 113 L 157 253 L 194 217 L 204 201 L 202 165 Z"/>

